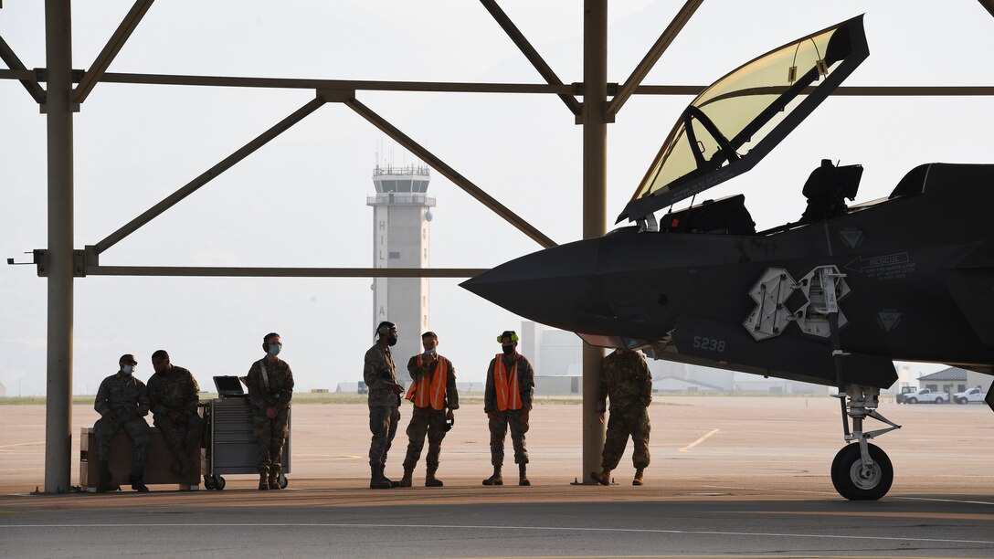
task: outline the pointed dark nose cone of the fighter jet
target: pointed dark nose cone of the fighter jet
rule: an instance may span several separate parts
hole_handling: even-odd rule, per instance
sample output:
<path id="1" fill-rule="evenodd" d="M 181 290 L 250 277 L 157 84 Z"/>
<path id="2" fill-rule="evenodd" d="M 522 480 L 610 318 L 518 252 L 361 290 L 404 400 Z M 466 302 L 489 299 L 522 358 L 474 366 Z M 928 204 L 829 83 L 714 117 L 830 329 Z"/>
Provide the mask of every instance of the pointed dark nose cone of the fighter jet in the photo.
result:
<path id="1" fill-rule="evenodd" d="M 515 314 L 577 331 L 595 286 L 597 246 L 580 241 L 507 262 L 460 285 Z"/>

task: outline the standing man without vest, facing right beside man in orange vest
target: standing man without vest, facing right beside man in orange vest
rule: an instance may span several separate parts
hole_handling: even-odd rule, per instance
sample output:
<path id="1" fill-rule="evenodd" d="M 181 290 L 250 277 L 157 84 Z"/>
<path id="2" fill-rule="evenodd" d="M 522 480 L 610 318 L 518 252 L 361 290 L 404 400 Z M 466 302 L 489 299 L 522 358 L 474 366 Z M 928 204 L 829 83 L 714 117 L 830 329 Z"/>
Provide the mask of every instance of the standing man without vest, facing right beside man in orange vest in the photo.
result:
<path id="1" fill-rule="evenodd" d="M 370 488 L 399 487 L 400 481 L 387 477 L 387 453 L 397 435 L 401 421 L 401 393 L 404 386 L 397 382 L 397 366 L 390 347 L 397 345 L 399 334 L 393 322 L 381 322 L 376 329 L 377 342 L 363 359 L 363 380 L 369 388 L 370 432 Z"/>

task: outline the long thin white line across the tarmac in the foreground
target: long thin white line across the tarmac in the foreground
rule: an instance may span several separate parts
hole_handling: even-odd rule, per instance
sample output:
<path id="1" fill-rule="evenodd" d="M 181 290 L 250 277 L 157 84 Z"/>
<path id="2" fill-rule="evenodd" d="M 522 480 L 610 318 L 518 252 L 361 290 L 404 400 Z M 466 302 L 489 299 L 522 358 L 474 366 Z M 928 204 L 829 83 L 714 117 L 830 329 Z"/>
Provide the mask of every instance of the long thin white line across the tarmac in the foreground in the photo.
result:
<path id="1" fill-rule="evenodd" d="M 923 543 L 982 543 L 992 545 L 994 540 L 951 539 L 951 538 L 908 538 L 896 536 L 851 536 L 840 534 L 798 534 L 776 532 L 726 532 L 720 530 L 664 530 L 657 528 L 593 528 L 570 526 L 492 526 L 467 524 L 370 524 L 370 523 L 310 523 L 310 522 L 218 522 L 218 523 L 121 523 L 106 524 L 0 524 L 0 530 L 11 528 L 413 528 L 451 530 L 522 530 L 533 532 L 624 532 L 632 534 L 675 534 L 704 536 L 745 536 L 774 538 L 807 538 L 861 541 L 904 541 Z"/>

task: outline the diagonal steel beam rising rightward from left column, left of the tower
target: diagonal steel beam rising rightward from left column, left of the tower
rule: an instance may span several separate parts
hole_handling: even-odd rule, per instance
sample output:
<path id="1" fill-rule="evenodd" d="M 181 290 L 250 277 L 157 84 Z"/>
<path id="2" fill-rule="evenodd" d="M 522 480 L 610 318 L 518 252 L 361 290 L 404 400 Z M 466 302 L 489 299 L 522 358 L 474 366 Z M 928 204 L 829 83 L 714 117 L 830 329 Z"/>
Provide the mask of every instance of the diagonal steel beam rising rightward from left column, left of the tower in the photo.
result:
<path id="1" fill-rule="evenodd" d="M 197 189 L 211 182 L 215 177 L 217 177 L 221 173 L 234 167 L 236 163 L 248 157 L 249 154 L 251 154 L 256 149 L 268 143 L 269 140 L 285 132 L 287 129 L 289 129 L 290 126 L 303 120 L 305 116 L 317 110 L 324 103 L 325 103 L 324 98 L 316 97 L 308 101 L 307 104 L 294 110 L 292 113 L 290 113 L 289 116 L 283 118 L 279 122 L 276 122 L 271 128 L 256 136 L 255 139 L 249 141 L 247 144 L 242 146 L 238 151 L 224 158 L 217 165 L 204 171 L 199 177 L 188 182 L 179 190 L 173 192 L 172 194 L 164 198 L 161 202 L 146 210 L 140 216 L 134 218 L 133 220 L 126 223 L 117 231 L 108 235 L 104 240 L 100 241 L 99 243 L 93 246 L 93 253 L 99 255 L 100 253 L 106 251 L 110 247 L 113 247 L 121 239 L 124 239 L 128 235 L 134 233 L 141 226 L 152 221 L 153 219 L 158 217 L 160 214 L 162 214 L 169 208 L 172 208 L 173 206 L 178 204 L 180 200 L 183 200 L 187 196 L 190 196 L 191 194 L 196 192 Z"/>

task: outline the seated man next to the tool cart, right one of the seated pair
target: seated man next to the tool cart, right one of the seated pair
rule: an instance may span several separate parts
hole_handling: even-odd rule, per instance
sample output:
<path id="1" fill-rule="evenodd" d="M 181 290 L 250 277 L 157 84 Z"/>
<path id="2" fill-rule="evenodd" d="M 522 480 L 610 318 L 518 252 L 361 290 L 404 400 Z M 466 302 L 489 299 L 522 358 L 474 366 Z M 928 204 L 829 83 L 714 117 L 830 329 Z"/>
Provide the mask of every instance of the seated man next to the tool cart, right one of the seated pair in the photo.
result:
<path id="1" fill-rule="evenodd" d="M 152 422 L 159 428 L 175 459 L 170 469 L 186 475 L 194 466 L 190 455 L 200 447 L 204 420 L 198 413 L 200 386 L 193 374 L 169 362 L 166 350 L 152 354 L 155 374 L 148 379 L 148 404 Z M 199 465 L 198 465 L 199 467 Z"/>

